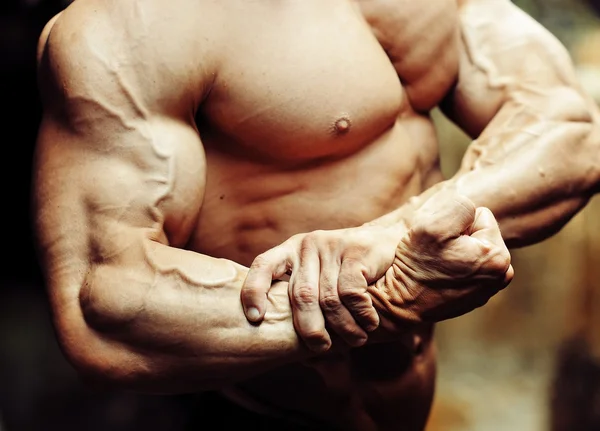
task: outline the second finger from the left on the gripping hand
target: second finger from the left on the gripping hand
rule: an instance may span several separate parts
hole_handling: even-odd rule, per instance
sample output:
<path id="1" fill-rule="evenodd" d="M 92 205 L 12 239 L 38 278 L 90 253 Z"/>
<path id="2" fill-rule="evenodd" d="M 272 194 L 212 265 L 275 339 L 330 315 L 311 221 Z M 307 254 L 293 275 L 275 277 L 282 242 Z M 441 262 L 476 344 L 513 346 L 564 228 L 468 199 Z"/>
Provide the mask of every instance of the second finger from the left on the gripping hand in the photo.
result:
<path id="1" fill-rule="evenodd" d="M 321 264 L 316 245 L 308 238 L 300 245 L 300 256 L 290 277 L 290 301 L 294 328 L 308 348 L 322 353 L 331 347 L 325 318 L 319 305 Z"/>

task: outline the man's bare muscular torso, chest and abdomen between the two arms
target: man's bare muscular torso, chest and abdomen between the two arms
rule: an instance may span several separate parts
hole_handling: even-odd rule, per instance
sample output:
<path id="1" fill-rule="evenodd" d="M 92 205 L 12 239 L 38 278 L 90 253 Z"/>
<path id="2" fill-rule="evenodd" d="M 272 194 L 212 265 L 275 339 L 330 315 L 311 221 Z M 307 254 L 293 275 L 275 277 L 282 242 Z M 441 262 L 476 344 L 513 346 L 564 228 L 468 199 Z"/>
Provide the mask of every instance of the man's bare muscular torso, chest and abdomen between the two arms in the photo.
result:
<path id="1" fill-rule="evenodd" d="M 197 113 L 207 179 L 189 248 L 249 265 L 295 233 L 360 225 L 440 179 L 428 111 L 456 77 L 453 0 L 235 3 L 244 37 L 228 39 Z M 427 355 L 430 329 L 417 331 Z M 408 416 L 433 378 L 414 347 L 409 336 L 241 386 L 278 410 L 358 424 L 356 393 L 387 380 L 397 398 L 412 392 L 398 399 Z M 364 372 L 374 363 L 379 376 Z"/>

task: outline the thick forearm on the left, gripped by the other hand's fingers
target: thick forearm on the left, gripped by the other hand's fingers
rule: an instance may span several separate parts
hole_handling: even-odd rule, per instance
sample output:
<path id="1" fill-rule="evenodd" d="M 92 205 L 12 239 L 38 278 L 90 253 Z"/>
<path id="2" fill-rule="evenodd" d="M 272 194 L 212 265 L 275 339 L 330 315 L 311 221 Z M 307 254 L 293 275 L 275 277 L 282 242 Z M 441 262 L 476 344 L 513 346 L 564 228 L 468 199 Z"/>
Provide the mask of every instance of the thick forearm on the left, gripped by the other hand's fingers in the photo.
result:
<path id="1" fill-rule="evenodd" d="M 140 391 L 197 391 L 308 357 L 287 283 L 275 283 L 264 322 L 253 326 L 240 303 L 245 268 L 154 242 L 145 253 L 134 267 L 96 267 L 84 284 L 85 321 L 112 346 L 96 379 Z"/>

